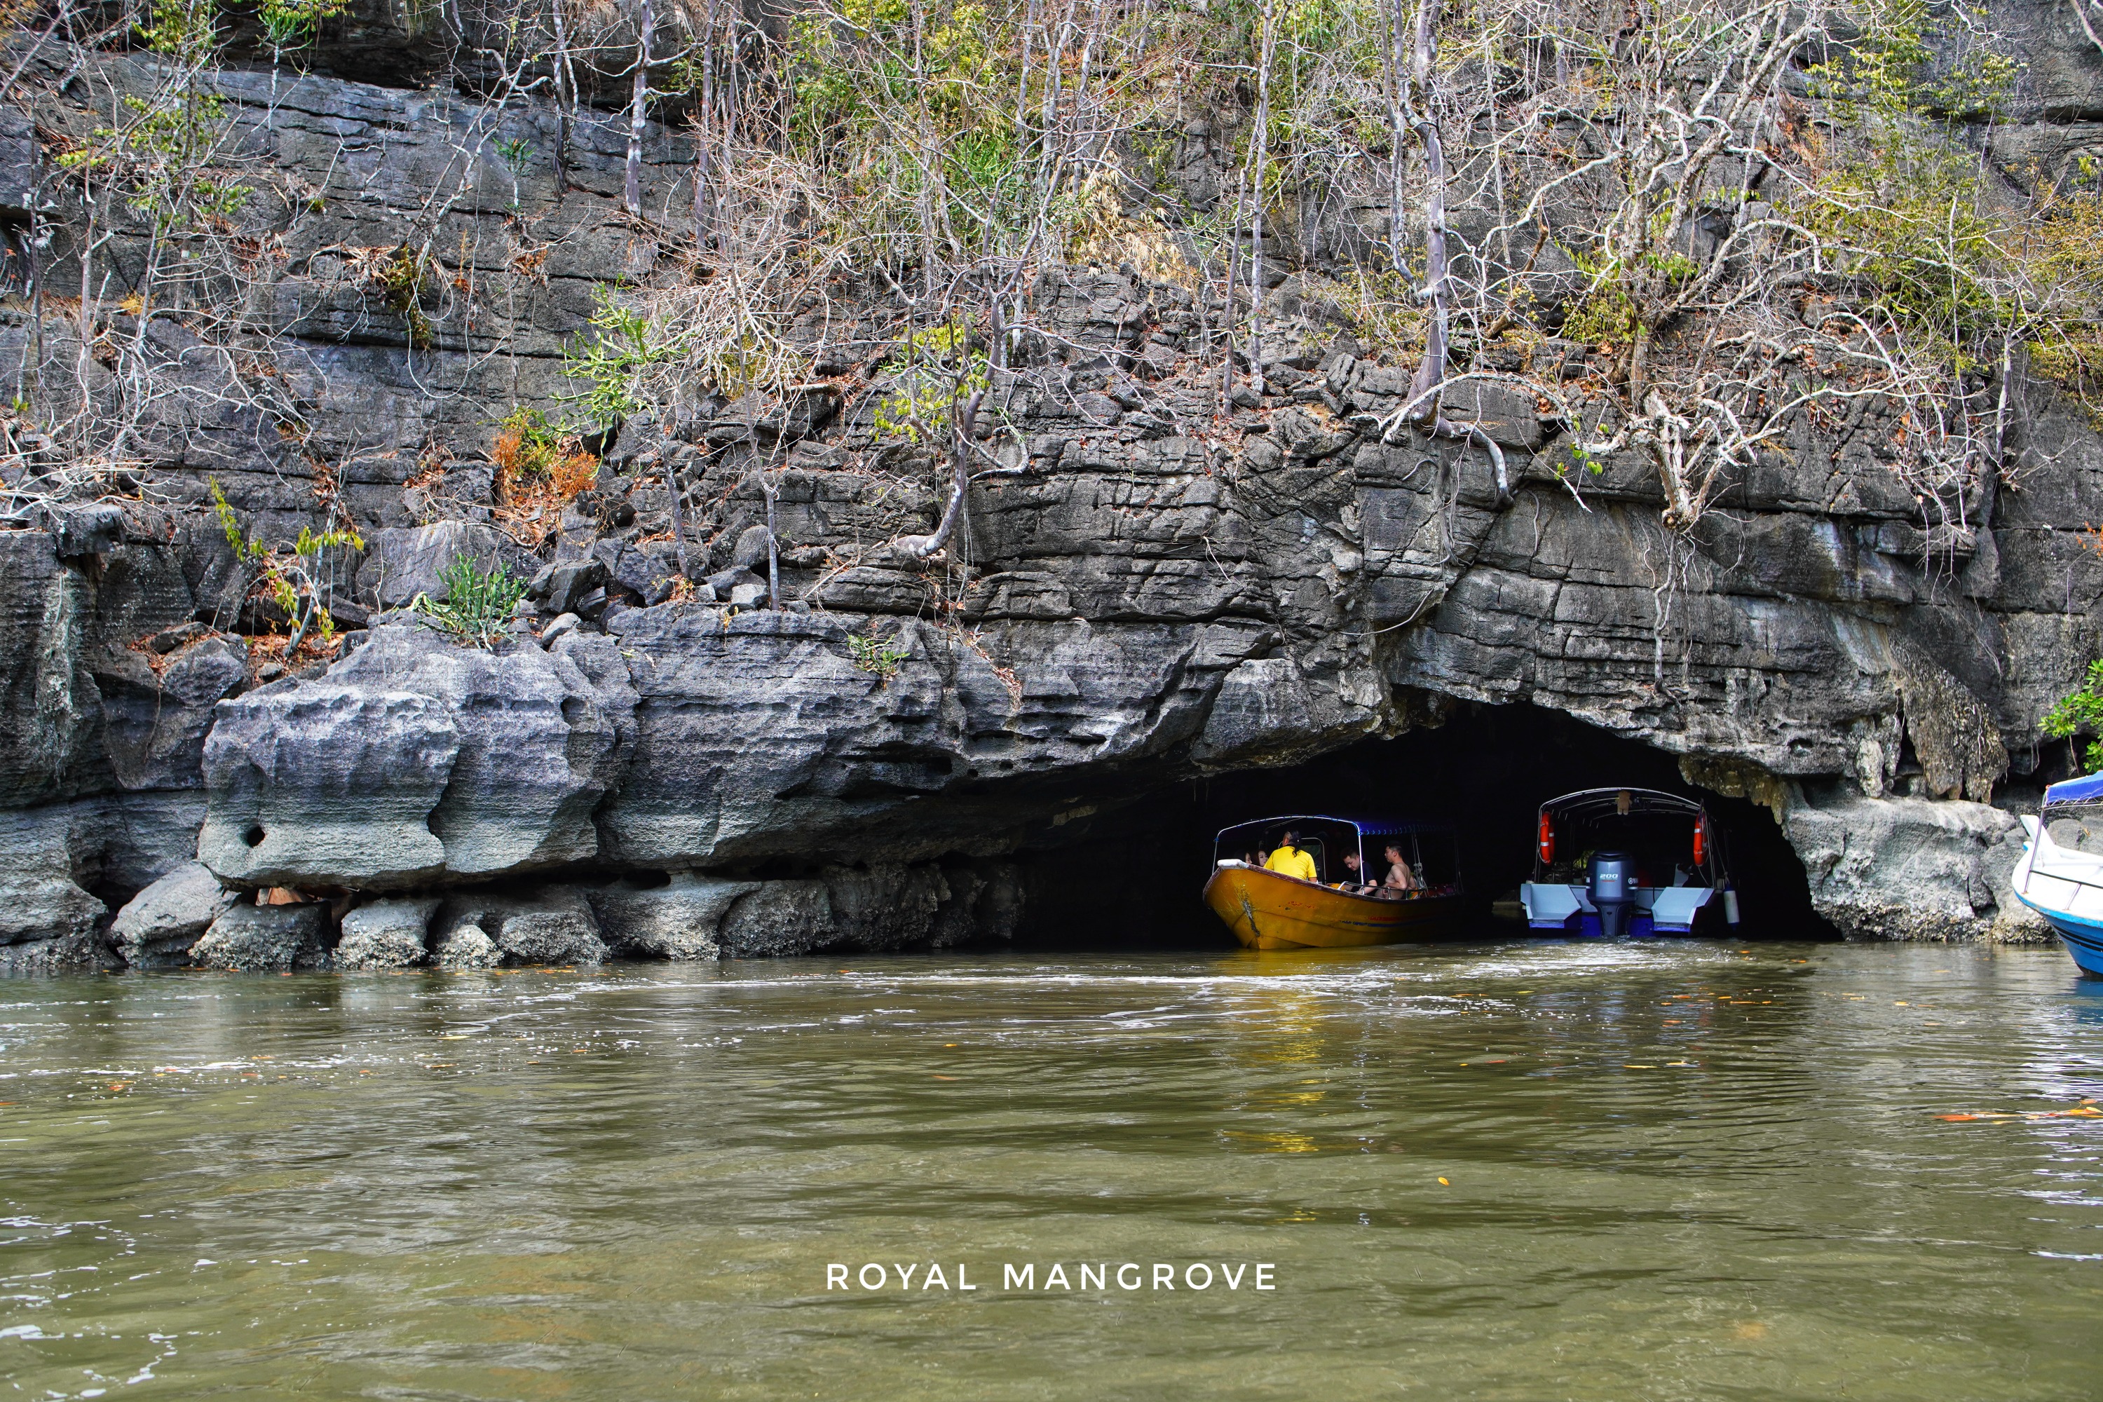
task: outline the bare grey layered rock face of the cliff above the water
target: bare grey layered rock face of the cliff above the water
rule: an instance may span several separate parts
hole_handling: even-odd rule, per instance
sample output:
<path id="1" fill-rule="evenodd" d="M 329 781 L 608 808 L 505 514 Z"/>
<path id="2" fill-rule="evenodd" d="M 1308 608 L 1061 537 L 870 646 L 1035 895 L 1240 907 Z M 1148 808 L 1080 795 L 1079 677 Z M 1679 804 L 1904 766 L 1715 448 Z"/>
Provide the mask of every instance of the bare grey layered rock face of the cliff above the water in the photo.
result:
<path id="1" fill-rule="evenodd" d="M 2050 114 L 2097 107 L 2103 61 L 2036 4 L 2006 19 L 2038 92 L 1994 141 L 2063 168 L 2092 132 Z M 492 496 L 494 425 L 559 416 L 593 290 L 675 259 L 618 210 L 625 118 L 576 120 L 557 191 L 547 162 L 463 156 L 547 149 L 555 116 L 433 103 L 412 86 L 431 50 L 366 15 L 315 74 L 210 80 L 259 187 L 307 191 L 259 242 L 282 351 L 242 380 L 282 412 L 200 378 L 126 448 L 151 492 L 0 530 L 0 967 L 330 956 L 320 904 L 219 908 L 221 885 L 353 893 L 345 967 L 999 935 L 1022 919 L 1016 853 L 1100 807 L 1453 702 L 1567 713 L 1775 805 L 1842 931 L 2008 929 L 2006 809 L 2065 767 L 2038 721 L 2103 652 L 2082 532 L 2103 437 L 2050 387 L 2010 385 L 2010 467 L 1960 525 L 1926 519 L 1865 410 L 1804 420 L 1674 532 L 1655 465 L 1573 477 L 1569 425 L 1510 387 L 1449 406 L 1502 444 L 1510 500 L 1478 448 L 1390 441 L 1411 368 L 1321 313 L 1319 252 L 1266 303 L 1264 393 L 1226 414 L 1211 307 L 1047 267 L 1030 298 L 1052 349 L 988 374 L 999 467 L 940 559 L 896 549 L 934 530 L 940 465 L 837 391 L 763 420 L 709 399 L 690 425 L 625 422 L 585 492 L 528 515 Z M 105 120 L 61 78 L 118 103 L 154 82 L 137 55 L 59 42 L 21 61 L 59 132 Z M 690 193 L 692 156 L 650 126 L 648 208 Z M 372 259 L 429 242 L 433 189 L 463 252 L 404 298 Z M 147 233 L 109 238 L 124 265 Z M 829 385 L 881 359 L 877 322 Z M 135 330 L 187 353 L 168 317 Z M 67 393 L 116 393 L 97 347 L 48 334 L 90 366 Z M 0 326 L 0 355 L 34 341 Z M 303 528 L 355 525 L 364 549 L 315 568 L 374 626 L 326 662 L 238 637 L 269 591 L 215 488 L 280 563 Z M 387 614 L 444 599 L 461 557 L 534 580 L 496 650 Z"/>

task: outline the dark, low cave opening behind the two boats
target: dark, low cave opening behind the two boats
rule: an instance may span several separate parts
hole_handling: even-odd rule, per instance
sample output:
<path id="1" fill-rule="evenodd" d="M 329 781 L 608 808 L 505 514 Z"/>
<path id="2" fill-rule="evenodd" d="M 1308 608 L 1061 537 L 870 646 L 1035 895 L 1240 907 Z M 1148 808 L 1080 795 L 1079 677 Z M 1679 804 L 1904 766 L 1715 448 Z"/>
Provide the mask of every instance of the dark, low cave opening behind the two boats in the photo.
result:
<path id="1" fill-rule="evenodd" d="M 1699 799 L 1724 830 L 1745 940 L 1830 940 L 1811 908 L 1802 862 L 1773 811 L 1680 778 L 1678 761 L 1638 740 L 1539 706 L 1459 704 L 1445 725 L 1283 769 L 1173 784 L 1087 820 L 1085 832 L 1022 855 L 1022 950 L 1228 948 L 1201 904 L 1220 828 L 1277 813 L 1392 813 L 1451 824 L 1468 887 L 1468 933 L 1523 940 L 1495 902 L 1533 872 L 1535 816 L 1577 788 L 1657 788 Z"/>

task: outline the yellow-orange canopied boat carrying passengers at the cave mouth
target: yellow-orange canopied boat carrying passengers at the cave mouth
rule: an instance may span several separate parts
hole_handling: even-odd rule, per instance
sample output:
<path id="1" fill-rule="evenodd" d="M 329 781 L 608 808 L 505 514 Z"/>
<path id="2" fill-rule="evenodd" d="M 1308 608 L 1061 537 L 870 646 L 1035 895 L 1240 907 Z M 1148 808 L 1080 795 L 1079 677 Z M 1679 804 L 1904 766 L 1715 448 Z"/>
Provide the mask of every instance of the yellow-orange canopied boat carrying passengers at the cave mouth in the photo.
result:
<path id="1" fill-rule="evenodd" d="M 1321 881 L 1302 881 L 1266 870 L 1243 858 L 1222 858 L 1239 843 L 1274 837 L 1283 828 L 1300 832 Z M 1377 872 L 1367 843 L 1384 853 L 1398 849 L 1417 885 L 1401 900 L 1344 891 L 1329 881 Z M 1342 860 L 1359 853 L 1359 870 Z M 1462 927 L 1459 864 L 1453 834 L 1428 824 L 1352 820 L 1323 816 L 1264 818 L 1224 828 L 1213 843 L 1213 870 L 1205 881 L 1205 904 L 1226 921 L 1241 944 L 1255 950 L 1340 950 L 1365 944 L 1428 944 L 1451 940 Z M 1329 870 L 1329 868 L 1335 870 Z"/>

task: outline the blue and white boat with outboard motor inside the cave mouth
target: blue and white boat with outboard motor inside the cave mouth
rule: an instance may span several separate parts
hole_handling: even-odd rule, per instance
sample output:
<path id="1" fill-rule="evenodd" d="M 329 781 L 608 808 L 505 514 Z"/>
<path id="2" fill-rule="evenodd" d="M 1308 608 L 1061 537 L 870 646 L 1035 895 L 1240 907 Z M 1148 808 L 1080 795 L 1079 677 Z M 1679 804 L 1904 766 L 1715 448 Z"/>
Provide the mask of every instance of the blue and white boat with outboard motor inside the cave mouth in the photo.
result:
<path id="1" fill-rule="evenodd" d="M 1737 889 L 1722 832 L 1693 799 L 1655 788 L 1586 788 L 1539 811 L 1527 925 L 1569 935 L 1722 933 Z"/>

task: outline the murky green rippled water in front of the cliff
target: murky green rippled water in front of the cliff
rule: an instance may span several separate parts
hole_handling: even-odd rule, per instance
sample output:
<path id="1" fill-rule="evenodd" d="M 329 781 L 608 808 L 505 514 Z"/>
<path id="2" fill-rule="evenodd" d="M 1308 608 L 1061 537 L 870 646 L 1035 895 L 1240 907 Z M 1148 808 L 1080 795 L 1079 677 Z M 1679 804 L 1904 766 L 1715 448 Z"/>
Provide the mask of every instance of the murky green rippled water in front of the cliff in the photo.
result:
<path id="1" fill-rule="evenodd" d="M 2057 950 L 8 982 L 0 1398 L 2097 1398 L 2084 1097 Z"/>

